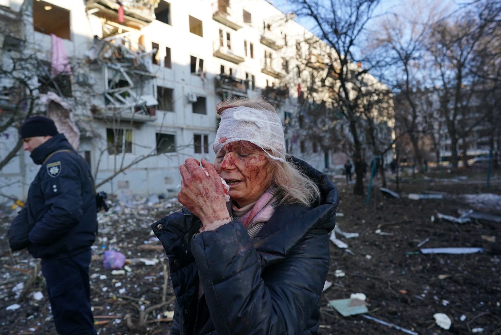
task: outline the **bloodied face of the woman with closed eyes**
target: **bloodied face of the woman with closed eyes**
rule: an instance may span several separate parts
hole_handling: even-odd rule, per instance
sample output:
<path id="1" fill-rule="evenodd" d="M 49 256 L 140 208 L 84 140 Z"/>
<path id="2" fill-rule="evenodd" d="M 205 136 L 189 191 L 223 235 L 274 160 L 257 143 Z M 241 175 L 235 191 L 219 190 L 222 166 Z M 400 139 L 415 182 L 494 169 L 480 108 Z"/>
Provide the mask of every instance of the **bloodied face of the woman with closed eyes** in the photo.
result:
<path id="1" fill-rule="evenodd" d="M 266 153 L 247 141 L 224 145 L 214 160 L 214 168 L 229 185 L 228 195 L 238 207 L 257 201 L 272 181 L 272 165 Z"/>

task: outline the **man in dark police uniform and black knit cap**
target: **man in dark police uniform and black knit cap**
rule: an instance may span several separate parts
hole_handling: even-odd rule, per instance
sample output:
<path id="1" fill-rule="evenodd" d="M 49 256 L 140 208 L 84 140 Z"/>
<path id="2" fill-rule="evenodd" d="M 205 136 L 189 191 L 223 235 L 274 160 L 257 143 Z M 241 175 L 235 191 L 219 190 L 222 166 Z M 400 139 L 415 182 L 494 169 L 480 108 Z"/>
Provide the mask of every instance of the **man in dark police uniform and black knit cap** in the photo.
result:
<path id="1" fill-rule="evenodd" d="M 42 259 L 56 329 L 96 334 L 89 264 L 97 217 L 89 166 L 50 118 L 28 118 L 20 137 L 35 164 L 42 164 L 28 191 L 28 251 Z"/>

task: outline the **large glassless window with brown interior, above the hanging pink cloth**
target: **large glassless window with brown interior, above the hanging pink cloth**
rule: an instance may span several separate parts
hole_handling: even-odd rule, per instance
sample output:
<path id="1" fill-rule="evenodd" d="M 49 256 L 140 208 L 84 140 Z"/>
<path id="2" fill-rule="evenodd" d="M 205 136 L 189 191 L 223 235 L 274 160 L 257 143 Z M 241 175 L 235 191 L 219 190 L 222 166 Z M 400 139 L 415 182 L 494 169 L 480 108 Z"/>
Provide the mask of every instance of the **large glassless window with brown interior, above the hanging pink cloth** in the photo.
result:
<path id="1" fill-rule="evenodd" d="M 71 40 L 70 11 L 45 1 L 34 1 L 33 28 L 39 33 Z"/>

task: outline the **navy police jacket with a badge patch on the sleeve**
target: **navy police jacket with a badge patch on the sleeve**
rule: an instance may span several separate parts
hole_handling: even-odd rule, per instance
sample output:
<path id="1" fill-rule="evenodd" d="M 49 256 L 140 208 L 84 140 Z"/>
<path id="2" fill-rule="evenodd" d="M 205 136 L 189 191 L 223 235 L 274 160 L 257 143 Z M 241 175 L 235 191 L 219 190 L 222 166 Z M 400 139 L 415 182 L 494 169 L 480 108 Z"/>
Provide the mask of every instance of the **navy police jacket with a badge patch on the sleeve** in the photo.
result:
<path id="1" fill-rule="evenodd" d="M 44 160 L 58 150 L 46 162 Z M 53 136 L 33 150 L 42 164 L 28 191 L 27 215 L 33 228 L 28 251 L 33 257 L 63 258 L 86 251 L 97 228 L 96 197 L 87 162 L 64 134 Z"/>

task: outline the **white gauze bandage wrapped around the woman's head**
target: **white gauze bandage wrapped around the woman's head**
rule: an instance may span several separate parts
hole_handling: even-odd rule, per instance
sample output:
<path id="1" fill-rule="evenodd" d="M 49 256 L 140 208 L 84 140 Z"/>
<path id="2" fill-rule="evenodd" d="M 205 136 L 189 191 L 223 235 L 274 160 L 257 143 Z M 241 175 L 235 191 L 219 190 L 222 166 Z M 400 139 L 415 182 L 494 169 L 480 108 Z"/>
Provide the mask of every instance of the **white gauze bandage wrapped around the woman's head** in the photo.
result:
<path id="1" fill-rule="evenodd" d="M 256 144 L 268 155 L 285 162 L 284 130 L 277 113 L 249 107 L 232 107 L 221 112 L 221 122 L 214 140 L 214 152 L 231 142 L 249 141 Z M 272 155 L 267 150 L 272 149 Z"/>

